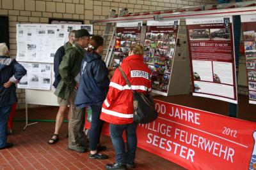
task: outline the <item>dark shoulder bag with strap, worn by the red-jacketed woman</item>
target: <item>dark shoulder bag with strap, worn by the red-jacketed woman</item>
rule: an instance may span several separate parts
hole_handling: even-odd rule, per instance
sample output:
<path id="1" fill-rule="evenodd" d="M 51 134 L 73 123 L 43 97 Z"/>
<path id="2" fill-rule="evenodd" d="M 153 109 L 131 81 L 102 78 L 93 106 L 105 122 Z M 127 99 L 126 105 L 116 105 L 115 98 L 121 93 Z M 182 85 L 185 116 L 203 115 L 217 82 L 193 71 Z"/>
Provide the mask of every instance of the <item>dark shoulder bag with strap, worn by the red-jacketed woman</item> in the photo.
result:
<path id="1" fill-rule="evenodd" d="M 125 76 L 124 71 L 121 67 L 118 67 L 122 76 L 124 77 L 127 85 L 131 88 L 131 83 Z M 132 89 L 131 89 L 132 90 Z M 149 92 L 147 91 L 146 94 L 136 92 L 132 90 L 133 94 L 133 122 L 140 123 L 140 124 L 148 124 L 153 122 L 158 117 L 158 113 L 155 109 L 155 103 L 150 96 Z"/>

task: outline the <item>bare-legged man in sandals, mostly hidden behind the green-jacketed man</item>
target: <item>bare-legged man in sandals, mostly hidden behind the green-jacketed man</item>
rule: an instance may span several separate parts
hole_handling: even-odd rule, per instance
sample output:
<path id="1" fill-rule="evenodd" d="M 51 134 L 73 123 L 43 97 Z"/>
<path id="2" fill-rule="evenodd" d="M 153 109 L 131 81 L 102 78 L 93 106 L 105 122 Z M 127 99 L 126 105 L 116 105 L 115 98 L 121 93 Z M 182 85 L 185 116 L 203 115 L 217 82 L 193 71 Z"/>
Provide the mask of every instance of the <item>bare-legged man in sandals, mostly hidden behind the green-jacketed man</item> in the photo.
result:
<path id="1" fill-rule="evenodd" d="M 55 88 L 57 88 L 58 83 L 60 83 L 60 80 L 61 80 L 61 76 L 60 76 L 60 73 L 59 73 L 59 66 L 60 66 L 60 63 L 61 63 L 61 60 L 62 60 L 63 56 L 65 55 L 65 50 L 70 48 L 76 42 L 75 33 L 76 33 L 75 30 L 69 32 L 68 42 L 65 43 L 65 45 L 58 48 L 57 52 L 54 55 L 54 76 L 55 76 L 55 80 L 54 80 L 54 83 L 52 85 Z M 63 122 L 65 113 L 68 112 L 68 105 L 70 103 L 67 100 L 58 98 L 58 104 L 60 105 L 60 108 L 59 108 L 57 116 L 56 116 L 56 124 L 55 124 L 54 134 L 52 134 L 51 139 L 49 139 L 49 141 L 48 141 L 49 144 L 54 144 L 59 140 L 58 135 L 59 135 L 60 127 L 61 127 L 61 124 Z M 70 117 L 70 111 L 69 111 L 69 114 L 68 114 L 68 120 L 69 120 L 69 117 Z"/>

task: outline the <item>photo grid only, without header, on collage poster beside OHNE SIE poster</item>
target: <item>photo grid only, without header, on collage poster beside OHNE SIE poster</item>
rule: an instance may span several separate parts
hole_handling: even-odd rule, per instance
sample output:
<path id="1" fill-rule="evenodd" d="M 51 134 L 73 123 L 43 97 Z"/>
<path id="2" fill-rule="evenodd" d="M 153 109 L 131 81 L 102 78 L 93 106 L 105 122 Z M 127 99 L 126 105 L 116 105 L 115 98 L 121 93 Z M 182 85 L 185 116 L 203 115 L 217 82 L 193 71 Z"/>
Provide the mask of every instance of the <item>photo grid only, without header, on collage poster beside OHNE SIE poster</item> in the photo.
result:
<path id="1" fill-rule="evenodd" d="M 176 36 L 174 32 L 146 32 L 143 60 L 152 71 L 153 90 L 168 91 Z"/>

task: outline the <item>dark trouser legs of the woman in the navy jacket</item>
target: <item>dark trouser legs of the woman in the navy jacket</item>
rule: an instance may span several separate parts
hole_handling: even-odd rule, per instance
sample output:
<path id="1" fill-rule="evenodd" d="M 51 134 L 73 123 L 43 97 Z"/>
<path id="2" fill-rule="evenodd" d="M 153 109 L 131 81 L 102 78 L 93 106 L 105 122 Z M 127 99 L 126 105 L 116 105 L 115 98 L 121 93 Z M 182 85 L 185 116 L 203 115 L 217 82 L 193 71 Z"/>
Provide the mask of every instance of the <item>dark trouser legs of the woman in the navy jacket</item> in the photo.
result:
<path id="1" fill-rule="evenodd" d="M 92 122 L 89 131 L 89 148 L 90 150 L 97 150 L 97 145 L 100 143 L 100 133 L 104 121 L 100 120 L 101 106 L 91 105 L 92 108 Z"/>

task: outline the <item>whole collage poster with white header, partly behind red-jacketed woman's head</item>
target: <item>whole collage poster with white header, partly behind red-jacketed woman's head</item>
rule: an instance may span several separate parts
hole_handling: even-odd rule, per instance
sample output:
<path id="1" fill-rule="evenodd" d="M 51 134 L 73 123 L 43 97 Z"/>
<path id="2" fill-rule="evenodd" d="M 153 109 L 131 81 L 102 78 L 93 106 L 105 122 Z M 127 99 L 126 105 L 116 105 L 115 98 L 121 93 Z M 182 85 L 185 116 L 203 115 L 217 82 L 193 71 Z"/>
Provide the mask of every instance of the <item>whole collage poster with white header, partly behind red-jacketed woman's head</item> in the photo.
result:
<path id="1" fill-rule="evenodd" d="M 139 44 L 141 40 L 142 22 L 120 22 L 116 23 L 115 52 L 113 56 L 113 67 L 122 64 L 128 56 L 132 44 Z"/>

